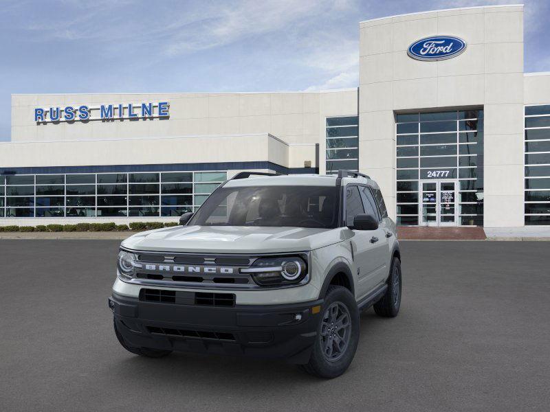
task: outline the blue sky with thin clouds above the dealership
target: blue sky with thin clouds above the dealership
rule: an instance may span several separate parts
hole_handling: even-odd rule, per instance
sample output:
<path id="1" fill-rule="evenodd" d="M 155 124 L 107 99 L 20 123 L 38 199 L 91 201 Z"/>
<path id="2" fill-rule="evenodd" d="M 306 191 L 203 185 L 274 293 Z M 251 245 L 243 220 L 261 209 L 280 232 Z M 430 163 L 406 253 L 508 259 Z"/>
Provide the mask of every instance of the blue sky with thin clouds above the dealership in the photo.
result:
<path id="1" fill-rule="evenodd" d="M 12 93 L 315 91 L 359 84 L 359 22 L 518 0 L 0 0 Z M 525 71 L 550 71 L 550 0 L 525 0 Z"/>

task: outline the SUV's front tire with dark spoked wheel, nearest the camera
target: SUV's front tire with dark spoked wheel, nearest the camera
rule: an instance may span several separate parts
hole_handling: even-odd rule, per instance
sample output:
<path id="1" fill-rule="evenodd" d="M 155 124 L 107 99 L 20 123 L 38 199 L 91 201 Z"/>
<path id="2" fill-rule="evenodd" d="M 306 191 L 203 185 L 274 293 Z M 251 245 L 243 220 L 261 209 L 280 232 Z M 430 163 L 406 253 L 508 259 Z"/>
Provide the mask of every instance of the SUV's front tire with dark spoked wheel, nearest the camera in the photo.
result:
<path id="1" fill-rule="evenodd" d="M 335 309 L 336 308 L 336 309 Z M 333 329 L 331 320 L 341 319 L 344 326 Z M 348 322 L 345 319 L 348 319 Z M 337 323 L 337 324 L 338 324 Z M 319 378 L 342 375 L 353 361 L 359 343 L 359 310 L 355 297 L 342 286 L 330 286 L 321 310 L 317 339 L 309 363 L 301 365 L 307 373 Z M 345 326 L 347 324 L 347 327 Z M 339 336 L 339 340 L 334 336 Z M 340 350 L 341 347 L 341 350 Z"/>

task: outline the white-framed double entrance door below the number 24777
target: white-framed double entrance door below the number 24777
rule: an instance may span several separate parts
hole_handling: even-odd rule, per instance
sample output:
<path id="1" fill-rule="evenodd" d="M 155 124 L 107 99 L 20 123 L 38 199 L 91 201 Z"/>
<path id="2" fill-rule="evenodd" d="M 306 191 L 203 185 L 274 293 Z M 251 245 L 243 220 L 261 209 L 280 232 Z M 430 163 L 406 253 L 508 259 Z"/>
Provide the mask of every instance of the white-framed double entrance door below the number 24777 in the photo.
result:
<path id="1" fill-rule="evenodd" d="M 458 225 L 456 180 L 420 181 L 420 225 L 456 226 Z"/>

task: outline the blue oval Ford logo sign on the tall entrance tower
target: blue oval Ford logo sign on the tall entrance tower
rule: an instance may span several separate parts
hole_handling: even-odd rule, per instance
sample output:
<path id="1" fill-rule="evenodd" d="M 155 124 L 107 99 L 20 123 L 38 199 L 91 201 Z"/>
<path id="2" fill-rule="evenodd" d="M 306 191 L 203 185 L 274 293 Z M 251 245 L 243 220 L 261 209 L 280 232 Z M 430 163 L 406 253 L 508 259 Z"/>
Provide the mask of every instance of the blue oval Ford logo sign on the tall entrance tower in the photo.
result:
<path id="1" fill-rule="evenodd" d="M 458 56 L 466 49 L 466 42 L 454 36 L 421 38 L 408 47 L 407 54 L 416 60 L 445 60 Z"/>

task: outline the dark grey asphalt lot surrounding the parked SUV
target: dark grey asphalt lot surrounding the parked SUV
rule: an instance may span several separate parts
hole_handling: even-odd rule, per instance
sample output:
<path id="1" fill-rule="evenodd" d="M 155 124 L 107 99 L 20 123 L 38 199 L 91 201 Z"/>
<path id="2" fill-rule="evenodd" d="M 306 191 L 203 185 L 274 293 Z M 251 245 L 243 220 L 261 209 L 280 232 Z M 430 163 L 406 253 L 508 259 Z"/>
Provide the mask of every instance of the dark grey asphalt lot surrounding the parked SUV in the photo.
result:
<path id="1" fill-rule="evenodd" d="M 402 242 L 401 313 L 349 371 L 120 347 L 116 240 L 0 240 L 2 411 L 548 411 L 549 242 Z"/>

